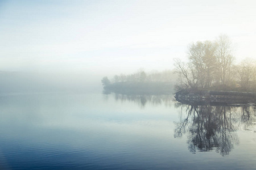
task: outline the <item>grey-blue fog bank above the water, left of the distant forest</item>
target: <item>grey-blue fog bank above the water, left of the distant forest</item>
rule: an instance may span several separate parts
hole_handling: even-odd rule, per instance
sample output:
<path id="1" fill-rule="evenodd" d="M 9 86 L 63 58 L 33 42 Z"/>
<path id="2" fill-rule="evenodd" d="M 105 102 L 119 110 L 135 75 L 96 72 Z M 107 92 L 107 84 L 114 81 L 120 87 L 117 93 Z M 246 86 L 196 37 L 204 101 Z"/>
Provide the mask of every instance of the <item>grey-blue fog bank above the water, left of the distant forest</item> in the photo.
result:
<path id="1" fill-rule="evenodd" d="M 86 73 L 0 73 L 0 95 L 101 91 L 100 75 Z"/>

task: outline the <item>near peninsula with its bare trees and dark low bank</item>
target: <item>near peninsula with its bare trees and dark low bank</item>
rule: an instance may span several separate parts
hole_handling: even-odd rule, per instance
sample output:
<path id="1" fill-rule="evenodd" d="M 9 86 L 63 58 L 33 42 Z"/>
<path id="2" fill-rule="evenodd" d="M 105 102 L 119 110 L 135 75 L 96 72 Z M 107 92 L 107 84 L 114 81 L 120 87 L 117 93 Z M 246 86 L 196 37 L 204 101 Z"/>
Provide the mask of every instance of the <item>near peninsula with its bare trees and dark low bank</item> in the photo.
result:
<path id="1" fill-rule="evenodd" d="M 246 58 L 234 63 L 232 42 L 221 35 L 216 41 L 197 41 L 188 46 L 187 62 L 175 59 L 179 83 L 177 101 L 250 103 L 256 99 L 256 65 Z"/>

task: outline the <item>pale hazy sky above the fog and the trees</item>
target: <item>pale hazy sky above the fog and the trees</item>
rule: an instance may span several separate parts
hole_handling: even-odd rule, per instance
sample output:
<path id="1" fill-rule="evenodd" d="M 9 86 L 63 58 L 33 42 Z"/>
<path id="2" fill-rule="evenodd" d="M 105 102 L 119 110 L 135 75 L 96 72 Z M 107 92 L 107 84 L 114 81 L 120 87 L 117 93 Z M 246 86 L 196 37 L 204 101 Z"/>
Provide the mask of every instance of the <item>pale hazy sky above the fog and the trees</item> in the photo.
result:
<path id="1" fill-rule="evenodd" d="M 0 70 L 172 69 L 187 45 L 225 33 L 256 58 L 256 1 L 0 0 Z"/>

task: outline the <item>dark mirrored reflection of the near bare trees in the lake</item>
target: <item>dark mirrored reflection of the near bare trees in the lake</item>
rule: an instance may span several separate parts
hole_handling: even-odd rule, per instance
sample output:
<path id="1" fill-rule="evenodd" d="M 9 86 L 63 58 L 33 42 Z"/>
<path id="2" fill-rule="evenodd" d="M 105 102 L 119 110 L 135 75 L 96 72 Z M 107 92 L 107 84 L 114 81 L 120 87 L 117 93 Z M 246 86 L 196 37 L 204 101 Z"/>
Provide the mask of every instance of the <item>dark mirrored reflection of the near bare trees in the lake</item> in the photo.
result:
<path id="1" fill-rule="evenodd" d="M 174 137 L 188 133 L 188 148 L 193 154 L 196 150 L 215 150 L 225 156 L 239 143 L 236 130 L 252 128 L 254 111 L 255 107 L 249 105 L 181 105 Z"/>

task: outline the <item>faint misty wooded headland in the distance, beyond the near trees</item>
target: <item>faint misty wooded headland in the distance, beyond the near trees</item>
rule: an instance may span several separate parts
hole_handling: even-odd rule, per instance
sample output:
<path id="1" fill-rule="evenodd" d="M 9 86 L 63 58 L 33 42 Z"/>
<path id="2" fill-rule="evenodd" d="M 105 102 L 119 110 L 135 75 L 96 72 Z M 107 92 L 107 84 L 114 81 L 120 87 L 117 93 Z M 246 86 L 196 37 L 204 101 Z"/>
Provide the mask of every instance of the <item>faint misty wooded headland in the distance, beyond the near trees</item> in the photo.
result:
<path id="1" fill-rule="evenodd" d="M 146 73 L 138 70 L 133 74 L 115 75 L 112 79 L 107 76 L 101 82 L 105 92 L 118 94 L 171 94 L 176 83 L 174 71 L 151 71 Z"/>

